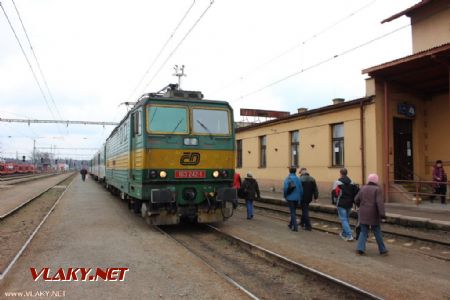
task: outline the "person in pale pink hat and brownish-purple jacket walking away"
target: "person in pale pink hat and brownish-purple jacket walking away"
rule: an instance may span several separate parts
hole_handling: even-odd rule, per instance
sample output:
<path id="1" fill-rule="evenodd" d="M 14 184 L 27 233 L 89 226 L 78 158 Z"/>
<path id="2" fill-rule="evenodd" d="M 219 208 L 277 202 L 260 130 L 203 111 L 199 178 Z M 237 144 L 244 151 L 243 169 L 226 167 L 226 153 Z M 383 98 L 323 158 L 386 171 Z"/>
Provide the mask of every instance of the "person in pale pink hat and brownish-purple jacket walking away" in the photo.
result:
<path id="1" fill-rule="evenodd" d="M 359 207 L 359 223 L 361 233 L 356 245 L 356 253 L 365 254 L 369 227 L 377 240 L 378 250 L 381 255 L 387 255 L 388 250 L 381 235 L 380 222 L 386 219 L 384 210 L 383 191 L 378 186 L 378 175 L 370 174 L 367 179 L 368 184 L 363 186 L 355 197 L 356 206 Z"/>

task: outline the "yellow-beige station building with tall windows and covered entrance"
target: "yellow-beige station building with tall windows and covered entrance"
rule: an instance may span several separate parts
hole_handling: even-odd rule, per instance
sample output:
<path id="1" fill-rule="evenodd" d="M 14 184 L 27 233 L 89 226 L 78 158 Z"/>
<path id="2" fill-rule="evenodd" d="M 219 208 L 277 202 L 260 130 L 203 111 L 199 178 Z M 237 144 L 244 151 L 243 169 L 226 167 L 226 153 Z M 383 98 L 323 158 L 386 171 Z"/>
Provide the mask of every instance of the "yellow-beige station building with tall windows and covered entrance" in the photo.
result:
<path id="1" fill-rule="evenodd" d="M 364 184 L 377 173 L 386 201 L 410 201 L 405 184 L 450 172 L 450 5 L 423 0 L 384 20 L 411 19 L 413 54 L 364 69 L 366 96 L 236 130 L 237 172 L 279 191 L 287 167 L 306 167 L 329 193 L 346 167 Z M 426 185 L 426 183 L 424 183 Z"/>

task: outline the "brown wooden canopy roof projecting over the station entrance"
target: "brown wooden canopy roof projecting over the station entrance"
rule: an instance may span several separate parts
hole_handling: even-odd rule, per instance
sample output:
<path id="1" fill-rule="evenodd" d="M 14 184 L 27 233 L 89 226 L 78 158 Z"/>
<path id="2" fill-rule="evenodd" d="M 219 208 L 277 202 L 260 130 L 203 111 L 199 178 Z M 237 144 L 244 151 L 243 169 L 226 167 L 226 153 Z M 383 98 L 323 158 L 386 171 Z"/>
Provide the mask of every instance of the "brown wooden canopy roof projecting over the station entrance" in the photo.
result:
<path id="1" fill-rule="evenodd" d="M 449 90 L 449 72 L 450 43 L 362 71 L 427 95 Z"/>

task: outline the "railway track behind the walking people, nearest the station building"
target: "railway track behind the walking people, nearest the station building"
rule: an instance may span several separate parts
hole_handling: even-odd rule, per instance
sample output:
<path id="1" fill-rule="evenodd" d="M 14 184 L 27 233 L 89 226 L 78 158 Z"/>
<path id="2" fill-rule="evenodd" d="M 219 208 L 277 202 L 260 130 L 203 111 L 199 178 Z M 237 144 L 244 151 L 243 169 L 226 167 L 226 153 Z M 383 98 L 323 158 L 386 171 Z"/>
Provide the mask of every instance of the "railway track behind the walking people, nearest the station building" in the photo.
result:
<path id="1" fill-rule="evenodd" d="M 244 205 L 242 202 L 239 204 Z M 256 202 L 254 203 L 254 207 L 259 210 L 259 213 L 263 212 L 262 215 L 266 217 L 281 221 L 288 220 L 289 212 L 283 206 Z M 297 213 L 297 216 L 300 217 L 301 214 Z M 335 217 L 310 211 L 310 219 L 314 230 L 339 235 L 341 223 Z M 350 226 L 354 228 L 353 224 L 350 224 Z M 415 250 L 427 256 L 450 261 L 450 238 L 447 232 L 432 234 L 429 231 L 422 232 L 397 227 L 400 226 L 383 225 L 385 242 L 388 244 L 400 242 L 398 244 L 401 244 L 405 248 Z"/>

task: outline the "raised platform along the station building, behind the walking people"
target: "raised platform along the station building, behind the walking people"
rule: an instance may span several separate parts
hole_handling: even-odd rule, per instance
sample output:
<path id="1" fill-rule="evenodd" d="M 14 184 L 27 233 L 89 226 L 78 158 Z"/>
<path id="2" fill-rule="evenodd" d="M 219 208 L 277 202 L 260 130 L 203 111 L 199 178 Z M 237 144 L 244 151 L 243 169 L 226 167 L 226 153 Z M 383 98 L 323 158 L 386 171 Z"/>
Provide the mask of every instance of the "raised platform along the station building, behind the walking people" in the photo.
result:
<path id="1" fill-rule="evenodd" d="M 280 193 L 261 192 L 263 202 L 285 204 Z M 439 229 L 450 231 L 450 204 L 400 204 L 386 203 L 386 216 L 388 223 L 419 228 Z M 330 198 L 321 197 L 317 202 L 311 203 L 311 210 L 337 214 L 336 207 L 330 203 Z"/>

